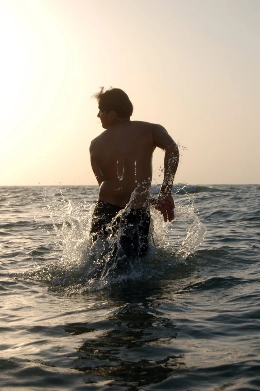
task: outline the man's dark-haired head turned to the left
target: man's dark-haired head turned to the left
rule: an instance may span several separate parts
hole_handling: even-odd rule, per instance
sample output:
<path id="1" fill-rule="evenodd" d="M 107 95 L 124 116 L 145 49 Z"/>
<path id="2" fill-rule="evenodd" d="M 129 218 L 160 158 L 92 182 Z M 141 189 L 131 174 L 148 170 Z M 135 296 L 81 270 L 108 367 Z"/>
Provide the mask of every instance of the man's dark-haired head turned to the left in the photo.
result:
<path id="1" fill-rule="evenodd" d="M 98 101 L 98 118 L 104 129 L 125 121 L 130 121 L 133 105 L 127 94 L 119 88 L 111 88 L 104 92 L 104 87 L 94 95 Z"/>

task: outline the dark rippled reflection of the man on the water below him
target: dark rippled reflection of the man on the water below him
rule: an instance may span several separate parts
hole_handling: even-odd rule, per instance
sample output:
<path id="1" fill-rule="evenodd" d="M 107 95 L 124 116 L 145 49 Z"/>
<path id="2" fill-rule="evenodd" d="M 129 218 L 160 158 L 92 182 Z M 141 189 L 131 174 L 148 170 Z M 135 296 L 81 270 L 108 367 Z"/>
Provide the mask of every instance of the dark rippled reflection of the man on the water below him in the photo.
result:
<path id="1" fill-rule="evenodd" d="M 175 348 L 176 324 L 160 311 L 160 303 L 146 299 L 160 286 L 131 284 L 123 291 L 110 292 L 111 306 L 132 300 L 114 310 L 104 320 L 75 322 L 65 326 L 72 335 L 84 335 L 77 348 L 73 368 L 87 375 L 86 383 L 109 381 L 108 386 L 128 386 L 128 390 L 158 383 L 185 367 L 184 353 Z M 151 289 L 152 288 L 152 289 Z M 131 292 L 133 294 L 131 294 Z M 115 302 L 113 303 L 115 298 Z M 132 302 L 131 302 L 132 301 Z"/>

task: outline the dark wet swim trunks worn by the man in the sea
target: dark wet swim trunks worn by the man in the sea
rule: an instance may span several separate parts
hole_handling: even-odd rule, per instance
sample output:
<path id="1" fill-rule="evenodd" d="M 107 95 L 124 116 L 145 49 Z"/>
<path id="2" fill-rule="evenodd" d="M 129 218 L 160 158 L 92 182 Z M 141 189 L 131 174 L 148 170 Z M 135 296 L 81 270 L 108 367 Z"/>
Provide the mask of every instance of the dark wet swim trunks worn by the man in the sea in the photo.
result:
<path id="1" fill-rule="evenodd" d="M 116 235 L 119 232 L 118 257 L 120 259 L 142 258 L 149 248 L 150 213 L 140 209 L 130 209 L 117 216 L 122 209 L 101 199 L 97 201 L 90 229 L 92 240 L 94 242 L 100 237 Z"/>

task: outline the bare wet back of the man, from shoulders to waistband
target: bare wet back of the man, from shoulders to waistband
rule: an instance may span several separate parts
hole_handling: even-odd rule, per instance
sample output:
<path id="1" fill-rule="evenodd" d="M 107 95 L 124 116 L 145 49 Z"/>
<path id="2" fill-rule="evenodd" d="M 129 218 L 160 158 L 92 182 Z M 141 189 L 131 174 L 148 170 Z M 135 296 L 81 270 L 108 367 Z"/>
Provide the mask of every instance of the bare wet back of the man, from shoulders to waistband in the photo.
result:
<path id="1" fill-rule="evenodd" d="M 134 207 L 146 206 L 155 149 L 153 129 L 156 126 L 128 121 L 112 126 L 92 141 L 91 162 L 101 185 L 100 199 L 125 207 L 135 190 L 139 196 Z"/>

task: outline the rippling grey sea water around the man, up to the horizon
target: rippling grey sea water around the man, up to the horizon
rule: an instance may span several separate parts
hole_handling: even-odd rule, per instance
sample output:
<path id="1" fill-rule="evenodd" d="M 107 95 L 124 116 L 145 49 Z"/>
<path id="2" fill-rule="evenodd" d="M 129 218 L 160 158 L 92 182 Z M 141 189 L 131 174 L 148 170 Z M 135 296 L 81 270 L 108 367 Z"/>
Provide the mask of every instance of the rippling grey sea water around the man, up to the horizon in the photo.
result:
<path id="1" fill-rule="evenodd" d="M 146 259 L 93 280 L 97 187 L 0 187 L 1 391 L 260 390 L 260 186 L 173 193 Z"/>

